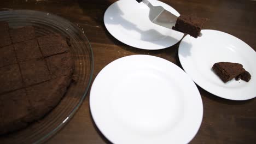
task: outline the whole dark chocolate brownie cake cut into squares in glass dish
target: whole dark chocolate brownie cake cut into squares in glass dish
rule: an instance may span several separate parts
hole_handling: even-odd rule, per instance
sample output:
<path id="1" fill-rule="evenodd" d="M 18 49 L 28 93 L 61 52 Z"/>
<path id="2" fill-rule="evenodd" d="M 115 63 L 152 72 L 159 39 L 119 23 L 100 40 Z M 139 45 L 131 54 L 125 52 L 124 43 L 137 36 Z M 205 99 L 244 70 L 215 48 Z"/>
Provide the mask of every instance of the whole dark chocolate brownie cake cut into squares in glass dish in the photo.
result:
<path id="1" fill-rule="evenodd" d="M 62 99 L 74 63 L 58 34 L 36 38 L 33 27 L 6 29 L 0 22 L 0 135 L 39 120 Z M 8 27 L 8 25 L 7 25 Z M 3 33 L 1 33 L 3 34 Z M 0 34 L 0 38 L 3 38 Z"/>

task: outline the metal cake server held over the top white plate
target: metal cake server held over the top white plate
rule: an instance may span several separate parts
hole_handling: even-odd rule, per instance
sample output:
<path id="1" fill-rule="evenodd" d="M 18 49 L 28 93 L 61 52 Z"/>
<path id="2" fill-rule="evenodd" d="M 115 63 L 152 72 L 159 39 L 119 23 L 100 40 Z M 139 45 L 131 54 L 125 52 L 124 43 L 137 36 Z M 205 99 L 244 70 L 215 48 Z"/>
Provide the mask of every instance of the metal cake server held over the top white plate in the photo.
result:
<path id="1" fill-rule="evenodd" d="M 136 0 L 138 3 L 143 2 L 149 7 L 149 19 L 156 25 L 172 29 L 178 19 L 176 15 L 173 15 L 170 11 L 167 11 L 161 6 L 154 6 L 148 0 Z M 202 36 L 200 33 L 199 37 Z"/>

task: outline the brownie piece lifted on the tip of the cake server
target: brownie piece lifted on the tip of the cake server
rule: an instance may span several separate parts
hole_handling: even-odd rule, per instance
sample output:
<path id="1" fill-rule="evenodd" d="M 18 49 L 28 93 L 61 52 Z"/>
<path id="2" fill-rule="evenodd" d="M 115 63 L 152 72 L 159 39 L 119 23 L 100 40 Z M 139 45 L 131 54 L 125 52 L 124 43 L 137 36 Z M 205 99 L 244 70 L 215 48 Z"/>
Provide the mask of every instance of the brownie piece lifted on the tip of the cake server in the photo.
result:
<path id="1" fill-rule="evenodd" d="M 207 19 L 195 17 L 192 15 L 181 15 L 178 17 L 176 24 L 172 29 L 183 32 L 197 38 L 200 35 L 201 29 L 205 25 Z"/>

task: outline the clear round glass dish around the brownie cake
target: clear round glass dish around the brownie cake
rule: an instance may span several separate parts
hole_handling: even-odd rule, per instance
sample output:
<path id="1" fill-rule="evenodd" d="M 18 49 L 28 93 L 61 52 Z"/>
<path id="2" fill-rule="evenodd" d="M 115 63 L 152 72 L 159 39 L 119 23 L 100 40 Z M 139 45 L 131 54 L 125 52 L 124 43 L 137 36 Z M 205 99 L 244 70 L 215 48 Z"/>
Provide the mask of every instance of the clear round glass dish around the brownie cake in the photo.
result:
<path id="1" fill-rule="evenodd" d="M 0 143 L 42 143 L 60 130 L 82 104 L 94 70 L 91 45 L 78 25 L 53 14 L 33 10 L 0 11 L 0 21 L 8 22 L 10 28 L 33 26 L 37 37 L 57 33 L 72 45 L 70 52 L 75 65 L 75 83 L 69 86 L 60 103 L 25 129 L 0 136 Z"/>

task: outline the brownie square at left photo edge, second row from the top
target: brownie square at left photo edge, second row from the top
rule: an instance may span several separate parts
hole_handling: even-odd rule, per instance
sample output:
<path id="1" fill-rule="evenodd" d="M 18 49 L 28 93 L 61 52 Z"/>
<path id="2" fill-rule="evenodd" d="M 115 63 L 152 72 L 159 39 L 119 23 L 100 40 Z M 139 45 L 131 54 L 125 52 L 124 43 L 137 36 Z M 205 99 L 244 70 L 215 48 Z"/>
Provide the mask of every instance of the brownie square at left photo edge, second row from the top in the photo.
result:
<path id="1" fill-rule="evenodd" d="M 0 48 L 0 68 L 17 63 L 13 45 Z"/>

